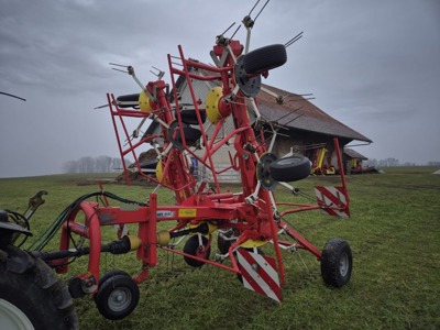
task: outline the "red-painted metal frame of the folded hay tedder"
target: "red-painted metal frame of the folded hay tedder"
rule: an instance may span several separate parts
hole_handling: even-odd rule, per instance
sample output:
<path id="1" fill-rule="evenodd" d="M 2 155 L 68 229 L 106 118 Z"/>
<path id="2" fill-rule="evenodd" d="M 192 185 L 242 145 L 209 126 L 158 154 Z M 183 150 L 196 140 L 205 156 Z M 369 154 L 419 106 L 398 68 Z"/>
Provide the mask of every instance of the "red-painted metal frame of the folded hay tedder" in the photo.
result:
<path id="1" fill-rule="evenodd" d="M 242 52 L 242 45 L 238 41 L 230 41 L 229 50 L 232 50 L 234 56 L 239 56 Z M 217 56 L 221 56 L 227 48 L 222 45 L 215 46 L 215 53 Z M 156 96 L 155 101 L 151 101 L 152 111 L 150 113 L 140 110 L 125 110 L 118 107 L 117 100 L 113 95 L 108 95 L 108 102 L 110 108 L 110 114 L 112 118 L 113 128 L 117 135 L 117 142 L 122 161 L 125 155 L 131 154 L 134 158 L 134 163 L 138 168 L 141 164 L 138 158 L 138 148 L 144 146 L 145 143 L 154 143 L 157 138 L 164 139 L 163 153 L 161 160 L 164 164 L 163 177 L 157 179 L 153 175 L 148 175 L 140 172 L 144 177 L 150 180 L 162 185 L 174 191 L 176 196 L 176 205 L 173 206 L 161 206 L 158 204 L 158 197 L 155 194 L 150 195 L 148 206 L 140 206 L 136 210 L 122 210 L 120 207 L 110 207 L 108 205 L 99 206 L 98 204 L 81 202 L 78 209 L 70 215 L 63 227 L 61 250 L 69 249 L 70 233 L 78 234 L 87 238 L 90 241 L 90 256 L 87 268 L 87 276 L 92 276 L 96 283 L 99 282 L 100 273 L 100 248 L 101 248 L 101 230 L 103 226 L 120 227 L 129 223 L 138 223 L 138 238 L 141 240 L 141 246 L 136 251 L 136 256 L 142 261 L 142 272 L 135 277 L 136 282 L 142 282 L 148 277 L 148 268 L 157 265 L 157 239 L 156 239 L 156 227 L 158 222 L 164 221 L 177 221 L 177 226 L 172 227 L 169 232 L 176 232 L 186 228 L 187 226 L 199 226 L 201 223 L 210 222 L 215 219 L 215 224 L 218 229 L 235 229 L 240 237 L 229 249 L 229 257 L 231 258 L 231 266 L 224 265 L 216 261 L 205 260 L 196 255 L 189 255 L 176 249 L 168 246 L 162 246 L 165 251 L 176 253 L 194 260 L 204 261 L 207 264 L 215 265 L 217 267 L 234 272 L 240 274 L 240 268 L 235 260 L 233 251 L 240 248 L 241 244 L 248 240 L 254 241 L 267 241 L 272 242 L 274 246 L 274 253 L 276 257 L 276 267 L 280 277 L 280 283 L 285 283 L 285 272 L 283 266 L 283 255 L 280 251 L 282 246 L 288 246 L 294 244 L 297 249 L 307 250 L 312 253 L 317 258 L 321 257 L 321 252 L 308 242 L 302 235 L 296 230 L 288 226 L 283 219 L 274 218 L 274 210 L 276 206 L 288 206 L 287 210 L 280 212 L 280 217 L 287 215 L 315 210 L 322 208 L 321 206 L 301 205 L 301 204 L 274 204 L 273 193 L 261 188 L 256 176 L 256 165 L 260 157 L 267 152 L 267 147 L 264 143 L 257 143 L 254 130 L 251 127 L 251 122 L 248 116 L 248 108 L 245 105 L 245 97 L 239 90 L 234 102 L 221 103 L 219 109 L 222 113 L 226 113 L 224 118 L 231 116 L 234 123 L 234 130 L 227 136 L 217 141 L 217 135 L 220 132 L 223 119 L 221 119 L 215 129 L 213 136 L 208 136 L 206 129 L 201 121 L 200 112 L 201 109 L 199 101 L 196 98 L 195 90 L 191 84 L 193 79 L 198 80 L 210 80 L 219 81 L 222 86 L 223 96 L 230 95 L 235 90 L 235 82 L 233 77 L 234 70 L 234 58 L 228 55 L 224 65 L 220 68 L 208 66 L 191 59 L 187 59 L 184 56 L 182 46 L 178 46 L 178 52 L 182 59 L 183 68 L 176 68 L 173 65 L 172 58 L 168 55 L 168 65 L 170 70 L 170 79 L 174 90 L 175 109 L 172 108 L 169 98 L 165 92 L 166 85 L 163 80 L 152 81 L 146 86 L 146 89 Z M 211 73 L 209 76 L 199 76 L 190 73 L 189 67 L 204 69 L 205 72 Z M 180 116 L 180 107 L 177 97 L 176 79 L 175 76 L 185 76 L 189 92 L 193 99 L 193 103 L 196 110 L 197 119 L 199 122 L 199 129 L 201 131 L 202 144 L 207 147 L 205 153 L 200 156 L 190 148 L 185 140 L 183 131 L 183 121 Z M 173 113 L 175 111 L 175 114 Z M 153 136 L 143 138 L 138 143 L 133 143 L 130 139 L 129 130 L 125 125 L 124 118 L 154 118 L 157 117 L 162 123 L 161 133 Z M 172 146 L 173 141 L 169 140 L 167 125 L 173 121 L 177 120 L 180 135 L 183 136 L 182 144 L 183 150 Z M 121 129 L 122 128 L 122 129 Z M 263 136 L 263 132 L 261 132 Z M 122 139 L 123 138 L 123 139 Z M 218 174 L 221 172 L 216 169 L 213 162 L 215 154 L 223 147 L 230 139 L 234 139 L 233 145 L 235 148 L 235 155 L 230 156 L 231 166 L 230 168 L 240 172 L 242 182 L 242 193 L 232 194 L 222 191 L 218 178 Z M 128 141 L 128 146 L 123 146 L 122 141 Z M 336 150 L 338 153 L 339 165 L 342 167 L 340 147 L 338 140 L 334 140 Z M 244 147 L 246 145 L 246 147 Z M 208 170 L 211 170 L 212 179 L 215 183 L 213 191 L 205 191 L 204 185 L 197 186 L 197 179 L 190 173 L 188 164 L 186 162 L 186 154 L 197 158 Z M 125 177 L 129 182 L 129 169 L 124 162 L 123 167 Z M 341 170 L 342 186 L 345 191 L 346 198 L 346 184 L 343 170 Z M 253 200 L 249 200 L 248 197 L 254 196 Z M 79 212 L 85 215 L 85 223 L 77 222 L 76 218 Z M 294 240 L 294 242 L 278 241 L 277 231 L 284 229 L 285 232 Z M 209 241 L 211 242 L 211 241 Z M 210 244 L 210 243 L 209 243 Z M 67 272 L 67 264 L 58 266 L 57 272 Z M 81 275 L 82 277 L 85 274 Z"/>

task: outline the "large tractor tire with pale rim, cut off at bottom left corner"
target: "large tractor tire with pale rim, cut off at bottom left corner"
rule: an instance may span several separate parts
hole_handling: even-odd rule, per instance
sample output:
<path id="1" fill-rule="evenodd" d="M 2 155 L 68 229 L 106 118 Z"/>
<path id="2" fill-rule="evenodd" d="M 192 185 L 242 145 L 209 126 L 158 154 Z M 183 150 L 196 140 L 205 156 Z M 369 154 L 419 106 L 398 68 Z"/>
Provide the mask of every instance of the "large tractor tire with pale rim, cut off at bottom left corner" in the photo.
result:
<path id="1" fill-rule="evenodd" d="M 0 319 L 2 329 L 79 329 L 64 282 L 12 245 L 0 250 Z"/>

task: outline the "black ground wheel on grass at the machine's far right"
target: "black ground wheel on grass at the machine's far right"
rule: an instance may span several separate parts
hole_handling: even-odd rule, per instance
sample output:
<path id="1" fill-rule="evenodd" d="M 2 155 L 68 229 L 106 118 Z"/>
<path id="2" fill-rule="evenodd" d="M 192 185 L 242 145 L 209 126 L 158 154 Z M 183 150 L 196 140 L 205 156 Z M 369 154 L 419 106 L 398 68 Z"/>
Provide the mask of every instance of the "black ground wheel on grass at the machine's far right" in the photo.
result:
<path id="1" fill-rule="evenodd" d="M 321 275 L 327 285 L 341 287 L 349 283 L 353 268 L 353 256 L 348 242 L 329 240 L 321 256 Z"/>

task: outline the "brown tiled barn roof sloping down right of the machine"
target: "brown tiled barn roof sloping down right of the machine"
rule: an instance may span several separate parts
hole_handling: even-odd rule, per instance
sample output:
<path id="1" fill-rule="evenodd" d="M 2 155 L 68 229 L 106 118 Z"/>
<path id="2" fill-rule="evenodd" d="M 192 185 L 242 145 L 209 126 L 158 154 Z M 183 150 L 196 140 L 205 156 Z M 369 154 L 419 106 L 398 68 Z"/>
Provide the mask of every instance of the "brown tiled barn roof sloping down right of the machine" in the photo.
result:
<path id="1" fill-rule="evenodd" d="M 284 97 L 284 103 L 279 105 L 273 96 L 263 91 L 258 92 L 255 99 L 261 114 L 266 120 L 290 129 L 372 142 L 369 138 L 330 117 L 302 96 L 267 85 L 263 87 Z"/>

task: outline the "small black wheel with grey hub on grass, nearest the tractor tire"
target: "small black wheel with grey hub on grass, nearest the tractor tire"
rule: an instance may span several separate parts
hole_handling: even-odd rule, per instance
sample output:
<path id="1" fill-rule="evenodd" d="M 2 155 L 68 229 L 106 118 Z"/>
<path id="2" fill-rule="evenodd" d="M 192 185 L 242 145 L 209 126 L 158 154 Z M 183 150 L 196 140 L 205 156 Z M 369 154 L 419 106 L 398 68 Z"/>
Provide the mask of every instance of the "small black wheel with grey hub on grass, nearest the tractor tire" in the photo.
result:
<path id="1" fill-rule="evenodd" d="M 96 295 L 99 312 L 109 320 L 120 320 L 129 316 L 139 302 L 138 284 L 123 272 L 114 271 L 114 275 L 101 283 Z"/>

